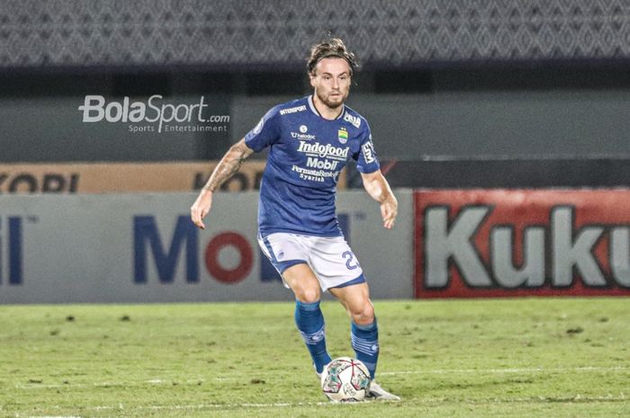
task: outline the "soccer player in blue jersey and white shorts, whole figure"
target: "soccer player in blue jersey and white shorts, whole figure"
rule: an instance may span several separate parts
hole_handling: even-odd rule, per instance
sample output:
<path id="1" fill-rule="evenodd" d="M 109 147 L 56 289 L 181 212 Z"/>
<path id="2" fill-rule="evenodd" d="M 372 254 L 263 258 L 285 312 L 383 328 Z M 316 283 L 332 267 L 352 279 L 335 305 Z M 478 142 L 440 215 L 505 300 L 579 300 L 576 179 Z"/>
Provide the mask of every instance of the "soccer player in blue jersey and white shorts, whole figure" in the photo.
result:
<path id="1" fill-rule="evenodd" d="M 307 63 L 313 94 L 272 108 L 220 160 L 191 207 L 204 228 L 212 196 L 243 161 L 269 148 L 260 186 L 258 243 L 296 298 L 295 323 L 320 376 L 326 350 L 322 291 L 329 291 L 351 318 L 356 358 L 372 381 L 368 397 L 399 400 L 374 380 L 378 325 L 361 265 L 347 245 L 335 213 L 341 169 L 352 158 L 365 190 L 381 205 L 383 227 L 394 226 L 398 202 L 381 173 L 367 122 L 344 102 L 350 93 L 355 55 L 342 40 L 315 45 Z"/>

